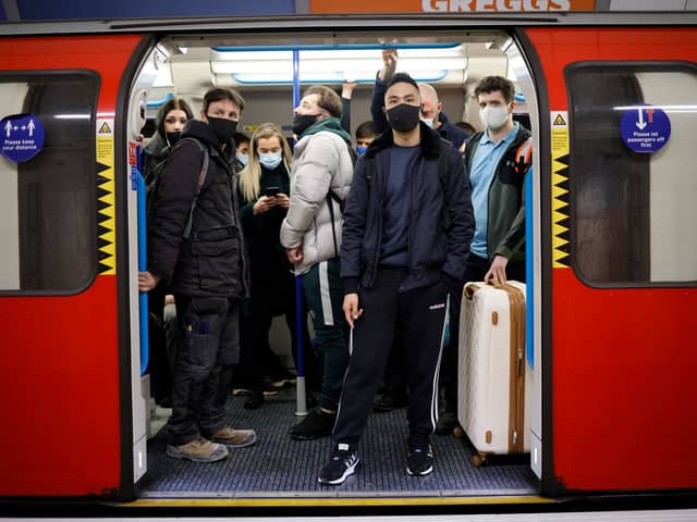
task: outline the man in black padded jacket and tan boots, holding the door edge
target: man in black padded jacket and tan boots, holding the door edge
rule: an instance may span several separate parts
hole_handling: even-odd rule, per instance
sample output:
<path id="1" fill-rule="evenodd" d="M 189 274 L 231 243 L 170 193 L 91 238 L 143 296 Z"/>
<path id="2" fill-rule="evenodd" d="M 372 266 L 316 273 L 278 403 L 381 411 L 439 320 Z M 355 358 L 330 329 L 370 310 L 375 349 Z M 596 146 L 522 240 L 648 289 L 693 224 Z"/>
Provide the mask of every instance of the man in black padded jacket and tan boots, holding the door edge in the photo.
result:
<path id="1" fill-rule="evenodd" d="M 241 299 L 247 293 L 230 164 L 243 108 L 237 92 L 212 88 L 200 121 L 184 127 L 150 201 L 148 271 L 138 274 L 140 291 L 164 279 L 174 294 L 184 341 L 174 370 L 167 455 L 197 462 L 224 459 L 228 448 L 256 442 L 252 430 L 227 425 L 217 400 L 221 372 L 240 357 Z"/>

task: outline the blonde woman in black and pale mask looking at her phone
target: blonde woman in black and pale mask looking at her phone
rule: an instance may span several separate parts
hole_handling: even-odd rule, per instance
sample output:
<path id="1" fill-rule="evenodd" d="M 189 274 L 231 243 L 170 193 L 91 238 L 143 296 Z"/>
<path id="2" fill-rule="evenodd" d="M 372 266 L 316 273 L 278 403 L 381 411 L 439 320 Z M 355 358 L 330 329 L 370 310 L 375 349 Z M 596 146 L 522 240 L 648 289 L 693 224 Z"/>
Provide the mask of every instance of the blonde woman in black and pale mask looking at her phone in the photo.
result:
<path id="1" fill-rule="evenodd" d="M 264 403 L 264 377 L 283 386 L 292 381 L 269 345 L 276 315 L 285 315 L 295 357 L 295 278 L 279 240 L 290 203 L 292 153 L 280 127 L 260 125 L 252 136 L 249 161 L 240 173 L 242 225 L 252 266 L 252 296 L 243 318 L 242 364 L 252 396 L 247 409 Z M 309 339 L 305 346 L 309 345 Z M 308 383 L 309 384 L 309 383 Z"/>

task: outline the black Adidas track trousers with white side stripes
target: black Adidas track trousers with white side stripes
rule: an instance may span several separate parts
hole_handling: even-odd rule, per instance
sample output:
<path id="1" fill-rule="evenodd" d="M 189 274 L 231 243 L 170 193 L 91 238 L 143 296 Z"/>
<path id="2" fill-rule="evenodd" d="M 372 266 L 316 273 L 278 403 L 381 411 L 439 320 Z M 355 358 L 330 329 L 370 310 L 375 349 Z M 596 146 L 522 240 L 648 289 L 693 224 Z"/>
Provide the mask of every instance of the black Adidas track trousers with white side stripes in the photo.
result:
<path id="1" fill-rule="evenodd" d="M 407 421 L 412 444 L 425 445 L 438 422 L 438 368 L 449 306 L 448 289 L 439 281 L 399 291 L 404 270 L 380 268 L 371 288 L 359 290 L 363 315 L 351 335 L 351 359 L 344 378 L 334 443 L 358 443 L 382 378 L 398 324 L 406 356 L 409 383 Z"/>

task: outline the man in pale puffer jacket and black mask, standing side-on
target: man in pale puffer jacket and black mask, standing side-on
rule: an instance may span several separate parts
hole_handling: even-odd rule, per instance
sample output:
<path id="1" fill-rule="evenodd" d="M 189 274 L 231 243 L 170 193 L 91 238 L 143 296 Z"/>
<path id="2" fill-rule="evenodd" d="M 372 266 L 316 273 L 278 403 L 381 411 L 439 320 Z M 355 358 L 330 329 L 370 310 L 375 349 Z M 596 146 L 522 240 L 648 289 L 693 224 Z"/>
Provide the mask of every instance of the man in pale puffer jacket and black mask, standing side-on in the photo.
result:
<path id="1" fill-rule="evenodd" d="M 331 434 L 348 363 L 350 330 L 342 311 L 339 276 L 342 217 L 338 200 L 348 195 L 353 159 L 351 135 L 341 127 L 341 110 L 337 92 L 313 86 L 305 91 L 293 119 L 298 142 L 281 244 L 295 273 L 303 274 L 303 291 L 323 353 L 319 407 L 290 431 L 292 438 L 301 440 Z"/>

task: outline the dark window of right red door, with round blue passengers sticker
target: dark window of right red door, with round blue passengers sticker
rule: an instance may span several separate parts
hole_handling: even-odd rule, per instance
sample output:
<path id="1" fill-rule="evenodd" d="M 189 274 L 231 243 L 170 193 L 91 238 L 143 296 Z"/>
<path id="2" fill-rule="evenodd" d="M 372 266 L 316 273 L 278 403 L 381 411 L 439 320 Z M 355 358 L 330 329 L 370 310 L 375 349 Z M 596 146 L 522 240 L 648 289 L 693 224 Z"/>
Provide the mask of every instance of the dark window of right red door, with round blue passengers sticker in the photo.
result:
<path id="1" fill-rule="evenodd" d="M 697 70 L 595 63 L 573 65 L 565 74 L 571 256 L 577 275 L 597 286 L 697 282 L 697 178 L 689 167 Z M 648 121 L 659 114 L 665 116 L 661 125 Z M 644 133 L 651 152 L 625 145 L 627 124 L 651 130 Z M 664 145 L 658 147 L 657 139 Z"/>

